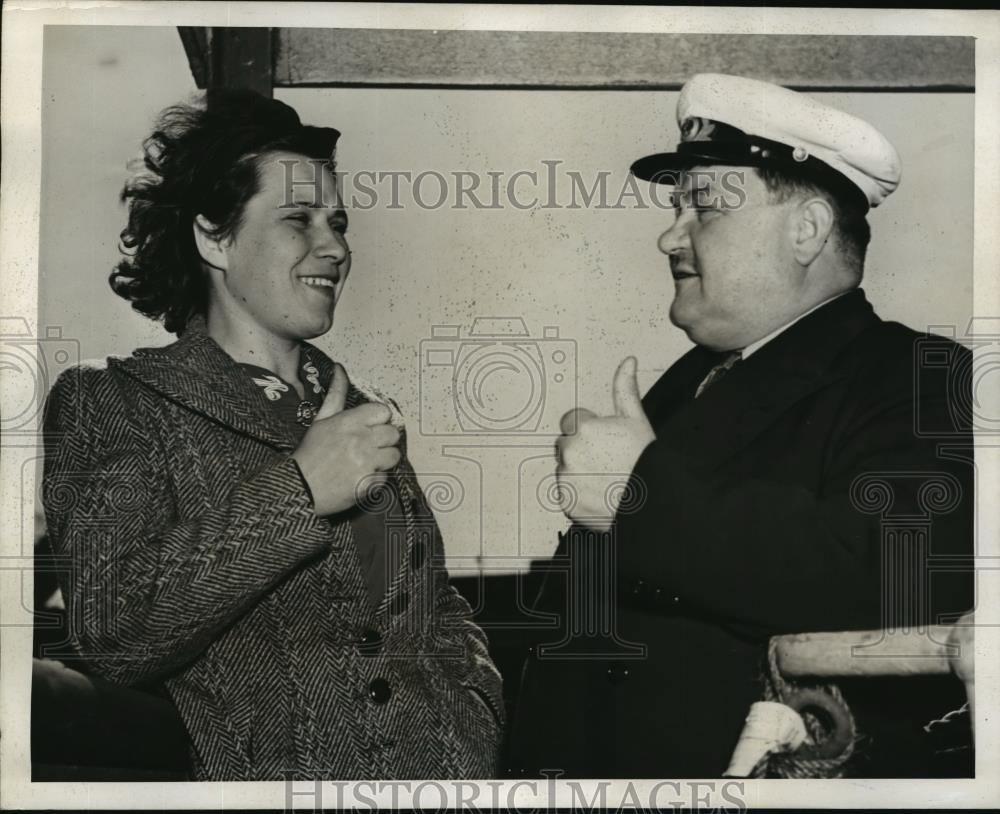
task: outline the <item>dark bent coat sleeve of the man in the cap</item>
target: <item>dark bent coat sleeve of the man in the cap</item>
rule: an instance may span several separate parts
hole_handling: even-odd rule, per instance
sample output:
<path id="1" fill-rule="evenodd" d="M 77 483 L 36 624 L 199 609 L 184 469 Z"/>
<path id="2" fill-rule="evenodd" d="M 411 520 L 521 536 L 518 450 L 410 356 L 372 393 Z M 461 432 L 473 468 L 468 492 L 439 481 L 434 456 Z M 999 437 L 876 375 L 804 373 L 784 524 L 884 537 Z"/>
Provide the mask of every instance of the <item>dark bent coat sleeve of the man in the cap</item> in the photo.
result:
<path id="1" fill-rule="evenodd" d="M 923 420 L 951 423 L 947 393 L 918 398 Z M 967 610 L 972 465 L 914 432 L 914 406 L 906 376 L 866 399 L 831 433 L 818 491 L 760 477 L 724 480 L 654 441 L 632 475 L 645 486 L 645 504 L 619 513 L 614 527 L 623 582 L 641 580 L 662 594 L 665 612 L 687 606 L 752 635 L 885 627 L 888 605 L 901 608 L 897 626 Z M 963 443 L 971 449 L 971 436 L 957 438 Z M 915 518 L 926 520 L 922 531 Z M 925 532 L 943 565 L 934 573 L 919 563 L 915 574 L 907 559 Z M 893 585 L 893 573 L 905 574 L 905 585 Z M 923 599 L 907 601 L 901 587 Z"/>

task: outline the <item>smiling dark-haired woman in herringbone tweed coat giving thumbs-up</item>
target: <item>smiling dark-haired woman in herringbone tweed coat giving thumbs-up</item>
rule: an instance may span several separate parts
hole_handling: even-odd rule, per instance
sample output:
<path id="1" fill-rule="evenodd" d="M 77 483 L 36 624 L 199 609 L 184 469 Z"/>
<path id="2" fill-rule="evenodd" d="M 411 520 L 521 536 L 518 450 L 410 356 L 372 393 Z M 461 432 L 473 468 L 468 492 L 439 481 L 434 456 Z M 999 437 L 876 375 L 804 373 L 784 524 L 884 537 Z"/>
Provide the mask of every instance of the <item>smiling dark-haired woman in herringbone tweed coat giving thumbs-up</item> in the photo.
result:
<path id="1" fill-rule="evenodd" d="M 398 411 L 306 341 L 351 267 L 338 136 L 209 91 L 147 140 L 111 286 L 180 338 L 50 396 L 74 643 L 166 687 L 199 779 L 487 777 L 500 676 Z"/>

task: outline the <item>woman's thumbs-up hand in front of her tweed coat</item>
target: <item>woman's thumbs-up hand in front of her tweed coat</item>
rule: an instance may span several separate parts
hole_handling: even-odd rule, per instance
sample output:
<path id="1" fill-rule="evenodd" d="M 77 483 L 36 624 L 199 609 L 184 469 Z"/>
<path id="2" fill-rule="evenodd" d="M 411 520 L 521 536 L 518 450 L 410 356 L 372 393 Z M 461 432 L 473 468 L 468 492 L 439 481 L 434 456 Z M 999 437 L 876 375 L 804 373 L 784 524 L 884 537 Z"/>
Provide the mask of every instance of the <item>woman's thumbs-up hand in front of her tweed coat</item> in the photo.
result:
<path id="1" fill-rule="evenodd" d="M 399 463 L 399 430 L 384 404 L 345 410 L 347 373 L 334 368 L 330 392 L 292 457 L 313 494 L 316 514 L 351 508 Z"/>

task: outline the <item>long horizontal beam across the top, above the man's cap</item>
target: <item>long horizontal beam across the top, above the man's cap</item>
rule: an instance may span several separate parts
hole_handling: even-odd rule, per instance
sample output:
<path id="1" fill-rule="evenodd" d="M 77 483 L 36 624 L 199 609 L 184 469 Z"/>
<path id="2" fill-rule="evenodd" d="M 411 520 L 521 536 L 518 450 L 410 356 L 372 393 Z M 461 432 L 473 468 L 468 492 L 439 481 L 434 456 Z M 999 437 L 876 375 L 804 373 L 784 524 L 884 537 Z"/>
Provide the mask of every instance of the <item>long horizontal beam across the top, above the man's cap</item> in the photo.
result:
<path id="1" fill-rule="evenodd" d="M 695 73 L 803 90 L 975 89 L 971 37 L 282 28 L 281 87 L 676 89 Z"/>

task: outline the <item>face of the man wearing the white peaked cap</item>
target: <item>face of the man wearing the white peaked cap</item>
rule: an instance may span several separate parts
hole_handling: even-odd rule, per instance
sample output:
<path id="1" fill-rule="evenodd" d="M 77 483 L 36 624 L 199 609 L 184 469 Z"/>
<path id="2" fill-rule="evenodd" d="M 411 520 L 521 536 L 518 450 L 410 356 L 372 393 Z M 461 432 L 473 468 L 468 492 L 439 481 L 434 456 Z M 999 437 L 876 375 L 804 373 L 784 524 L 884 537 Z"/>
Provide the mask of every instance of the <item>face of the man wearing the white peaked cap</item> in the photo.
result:
<path id="1" fill-rule="evenodd" d="M 674 193 L 676 220 L 659 239 L 674 277 L 674 325 L 699 345 L 735 350 L 801 313 L 793 204 L 771 204 L 747 167 L 695 167 Z"/>

